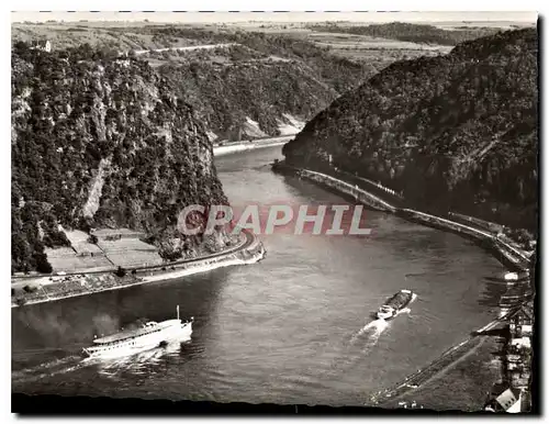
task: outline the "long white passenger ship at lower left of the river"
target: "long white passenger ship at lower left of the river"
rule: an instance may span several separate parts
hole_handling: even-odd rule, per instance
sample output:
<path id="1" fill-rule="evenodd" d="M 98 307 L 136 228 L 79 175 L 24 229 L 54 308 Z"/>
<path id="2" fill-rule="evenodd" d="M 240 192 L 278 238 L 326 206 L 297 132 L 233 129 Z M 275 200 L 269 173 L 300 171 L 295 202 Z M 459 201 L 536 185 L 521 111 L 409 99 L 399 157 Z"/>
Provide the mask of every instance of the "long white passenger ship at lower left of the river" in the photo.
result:
<path id="1" fill-rule="evenodd" d="M 93 346 L 85 347 L 83 354 L 88 357 L 116 358 L 130 356 L 155 347 L 164 347 L 170 341 L 188 339 L 192 333 L 193 317 L 187 322 L 179 319 L 166 320 L 160 323 L 150 321 L 141 328 L 126 330 L 107 337 L 96 338 Z"/>

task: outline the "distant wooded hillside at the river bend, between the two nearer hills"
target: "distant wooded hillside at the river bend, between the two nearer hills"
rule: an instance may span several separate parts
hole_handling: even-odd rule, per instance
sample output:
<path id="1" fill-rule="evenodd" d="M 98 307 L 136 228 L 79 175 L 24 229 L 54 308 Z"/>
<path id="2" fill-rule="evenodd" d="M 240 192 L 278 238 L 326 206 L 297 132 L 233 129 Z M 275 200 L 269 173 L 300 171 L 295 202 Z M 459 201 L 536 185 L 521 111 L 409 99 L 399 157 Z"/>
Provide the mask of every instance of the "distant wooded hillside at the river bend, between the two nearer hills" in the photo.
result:
<path id="1" fill-rule="evenodd" d="M 306 121 L 378 70 L 284 36 L 177 27 L 149 31 L 166 37 L 194 36 L 205 44 L 234 43 L 171 58 L 164 54 L 168 60 L 159 66 L 219 140 L 246 138 L 247 119 L 266 135 L 279 135 L 280 124 L 287 123 L 284 114 Z"/>

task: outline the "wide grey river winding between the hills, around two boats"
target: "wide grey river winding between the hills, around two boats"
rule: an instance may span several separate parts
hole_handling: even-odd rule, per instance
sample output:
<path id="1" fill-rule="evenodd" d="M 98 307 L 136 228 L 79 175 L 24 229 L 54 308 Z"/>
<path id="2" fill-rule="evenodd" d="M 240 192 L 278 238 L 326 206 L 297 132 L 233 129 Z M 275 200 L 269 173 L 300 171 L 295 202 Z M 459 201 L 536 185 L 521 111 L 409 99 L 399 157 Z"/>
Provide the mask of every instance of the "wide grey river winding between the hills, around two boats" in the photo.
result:
<path id="1" fill-rule="evenodd" d="M 346 201 L 271 172 L 269 147 L 216 158 L 235 205 Z M 497 315 L 503 266 L 450 233 L 367 211 L 368 237 L 262 235 L 259 264 L 12 309 L 12 390 L 65 395 L 362 405 Z M 389 323 L 370 314 L 418 293 Z M 82 361 L 94 334 L 194 316 L 191 341 L 116 362 Z M 482 401 L 482 400 L 481 400 Z M 467 405 L 463 405 L 464 408 Z"/>

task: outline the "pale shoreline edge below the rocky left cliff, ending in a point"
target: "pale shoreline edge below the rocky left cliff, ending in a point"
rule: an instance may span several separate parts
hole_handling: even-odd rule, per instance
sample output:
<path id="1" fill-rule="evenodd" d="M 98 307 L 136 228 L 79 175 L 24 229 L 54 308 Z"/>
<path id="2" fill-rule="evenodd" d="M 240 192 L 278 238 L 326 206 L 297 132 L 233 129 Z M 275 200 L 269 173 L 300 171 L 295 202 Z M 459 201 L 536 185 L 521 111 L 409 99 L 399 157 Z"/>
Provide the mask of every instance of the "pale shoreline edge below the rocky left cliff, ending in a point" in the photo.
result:
<path id="1" fill-rule="evenodd" d="M 134 286 L 146 284 L 149 282 L 164 282 L 169 281 L 176 278 L 187 277 L 194 274 L 206 272 L 217 268 L 225 268 L 235 265 L 250 265 L 256 264 L 265 258 L 266 250 L 262 243 L 251 233 L 243 232 L 246 235 L 246 241 L 237 246 L 233 247 L 226 253 L 215 254 L 213 257 L 203 257 L 197 258 L 192 260 L 187 260 L 179 264 L 167 264 L 164 266 L 155 266 L 150 268 L 142 268 L 136 270 L 135 275 L 125 276 L 125 277 L 115 277 L 113 272 L 97 272 L 97 274 L 86 274 L 78 272 L 78 276 L 85 276 L 85 279 L 79 279 L 79 281 L 70 281 L 72 284 L 71 289 L 68 292 L 65 292 L 61 295 L 49 295 L 46 292 L 46 288 L 57 289 L 59 286 L 65 284 L 63 277 L 59 282 L 53 282 L 49 284 L 41 286 L 42 292 L 36 295 L 36 299 L 25 300 L 23 304 L 19 304 L 13 302 L 12 297 L 12 305 L 11 308 L 20 308 L 38 303 L 47 303 L 55 302 L 63 299 L 76 298 L 81 295 L 89 295 L 93 293 L 100 293 L 104 291 L 113 291 L 119 289 L 126 289 Z M 171 270 L 166 270 L 167 268 L 171 268 Z M 87 281 L 86 278 L 97 277 L 97 281 Z M 102 278 L 105 278 L 107 281 L 101 281 Z M 79 283 L 80 282 L 80 283 Z M 107 284 L 109 282 L 109 284 Z M 89 283 L 89 286 L 88 286 Z M 98 287 L 90 287 L 99 283 Z M 79 290 L 82 287 L 86 287 L 83 290 Z M 24 299 L 24 298 L 23 298 Z"/>

